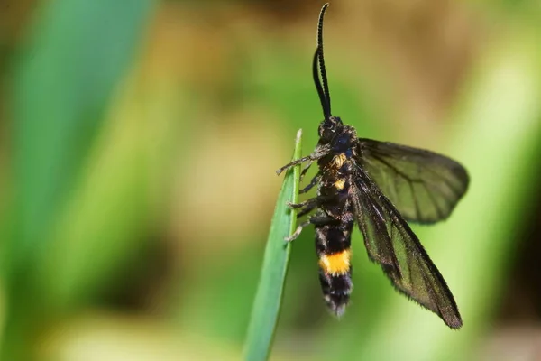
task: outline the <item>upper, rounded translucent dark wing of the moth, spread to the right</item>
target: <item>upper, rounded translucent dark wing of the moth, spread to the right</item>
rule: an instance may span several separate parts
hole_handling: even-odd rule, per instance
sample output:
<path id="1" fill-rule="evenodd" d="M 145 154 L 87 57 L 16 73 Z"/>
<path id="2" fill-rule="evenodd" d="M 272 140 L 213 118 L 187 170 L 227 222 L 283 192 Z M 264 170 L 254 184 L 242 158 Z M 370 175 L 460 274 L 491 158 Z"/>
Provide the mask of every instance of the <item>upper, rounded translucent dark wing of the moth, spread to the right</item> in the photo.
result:
<path id="1" fill-rule="evenodd" d="M 370 139 L 359 142 L 357 162 L 408 221 L 449 217 L 468 188 L 463 166 L 443 155 Z"/>

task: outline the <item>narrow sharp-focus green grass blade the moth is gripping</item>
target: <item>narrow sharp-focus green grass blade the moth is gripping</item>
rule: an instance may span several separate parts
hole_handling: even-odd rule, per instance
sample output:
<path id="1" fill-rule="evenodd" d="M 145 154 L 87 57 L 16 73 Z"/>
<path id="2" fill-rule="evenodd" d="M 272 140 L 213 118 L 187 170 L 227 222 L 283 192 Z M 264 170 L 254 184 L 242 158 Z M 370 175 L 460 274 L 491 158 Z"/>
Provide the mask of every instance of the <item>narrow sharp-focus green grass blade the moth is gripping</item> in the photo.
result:
<path id="1" fill-rule="evenodd" d="M 302 130 L 298 130 L 293 159 L 300 158 Z M 284 241 L 297 227 L 297 215 L 288 208 L 286 202 L 297 203 L 300 164 L 286 173 L 280 195 L 274 208 L 271 231 L 267 239 L 261 278 L 252 318 L 248 327 L 248 336 L 244 344 L 246 360 L 266 360 L 271 351 L 274 329 L 278 323 L 280 304 L 286 273 L 288 271 L 291 245 Z"/>

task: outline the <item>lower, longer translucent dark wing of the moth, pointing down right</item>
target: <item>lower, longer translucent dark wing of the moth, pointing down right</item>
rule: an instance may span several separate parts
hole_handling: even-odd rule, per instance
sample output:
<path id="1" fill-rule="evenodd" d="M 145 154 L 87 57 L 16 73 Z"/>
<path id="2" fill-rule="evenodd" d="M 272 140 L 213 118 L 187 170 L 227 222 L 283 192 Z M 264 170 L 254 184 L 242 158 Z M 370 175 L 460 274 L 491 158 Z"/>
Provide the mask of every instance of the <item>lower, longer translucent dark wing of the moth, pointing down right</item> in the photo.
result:
<path id="1" fill-rule="evenodd" d="M 453 294 L 417 236 L 368 174 L 356 172 L 353 209 L 369 257 L 381 265 L 399 292 L 435 312 L 450 328 L 459 329 L 462 319 Z"/>

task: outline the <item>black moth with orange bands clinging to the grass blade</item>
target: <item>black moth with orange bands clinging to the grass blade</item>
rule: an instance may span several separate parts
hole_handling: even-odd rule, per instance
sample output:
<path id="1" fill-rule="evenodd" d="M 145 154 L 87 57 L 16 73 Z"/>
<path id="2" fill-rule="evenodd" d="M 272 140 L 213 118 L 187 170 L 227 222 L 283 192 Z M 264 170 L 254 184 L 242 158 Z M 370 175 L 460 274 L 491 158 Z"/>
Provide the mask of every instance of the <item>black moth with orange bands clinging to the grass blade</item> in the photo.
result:
<path id="1" fill-rule="evenodd" d="M 463 322 L 453 294 L 407 221 L 431 224 L 447 218 L 468 188 L 468 174 L 443 155 L 358 138 L 352 126 L 331 115 L 323 59 L 327 6 L 319 14 L 313 62 L 325 116 L 319 142 L 313 153 L 277 171 L 307 162 L 302 176 L 317 162 L 316 176 L 300 190 L 305 193 L 317 185 L 316 198 L 289 204 L 298 208 L 298 217 L 316 212 L 287 240 L 297 238 L 303 227 L 315 226 L 321 288 L 328 308 L 340 316 L 353 288 L 350 243 L 356 222 L 371 261 L 381 265 L 394 287 L 458 329 Z"/>

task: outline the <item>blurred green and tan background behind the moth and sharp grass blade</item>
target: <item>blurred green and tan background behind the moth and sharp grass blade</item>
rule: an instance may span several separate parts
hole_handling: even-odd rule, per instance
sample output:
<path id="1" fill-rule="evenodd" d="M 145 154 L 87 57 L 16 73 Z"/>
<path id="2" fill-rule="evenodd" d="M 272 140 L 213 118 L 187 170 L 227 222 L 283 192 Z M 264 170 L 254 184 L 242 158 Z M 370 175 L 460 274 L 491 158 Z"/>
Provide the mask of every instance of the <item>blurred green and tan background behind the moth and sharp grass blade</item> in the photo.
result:
<path id="1" fill-rule="evenodd" d="M 235 360 L 298 128 L 322 118 L 314 0 L 0 1 L 0 359 Z M 345 317 L 292 249 L 273 360 L 541 359 L 541 3 L 336 0 L 333 110 L 472 183 L 415 227 L 460 331 L 353 236 Z"/>

